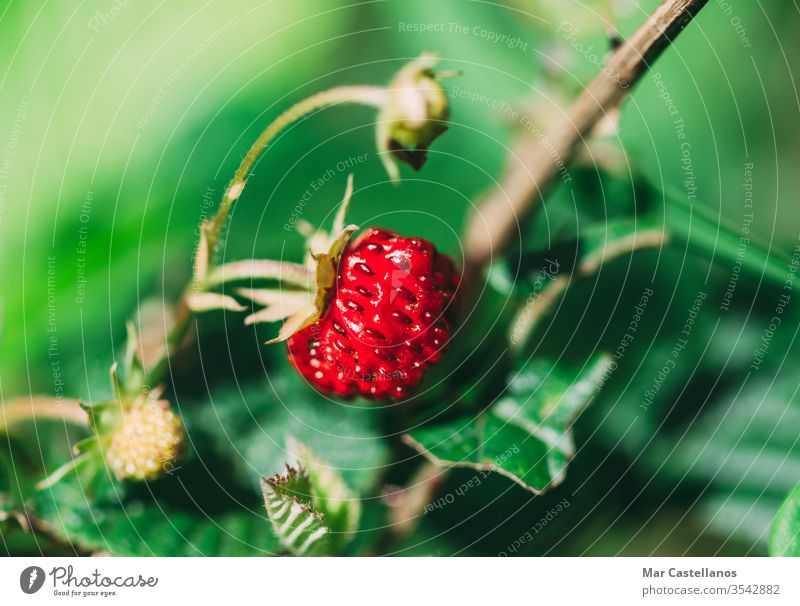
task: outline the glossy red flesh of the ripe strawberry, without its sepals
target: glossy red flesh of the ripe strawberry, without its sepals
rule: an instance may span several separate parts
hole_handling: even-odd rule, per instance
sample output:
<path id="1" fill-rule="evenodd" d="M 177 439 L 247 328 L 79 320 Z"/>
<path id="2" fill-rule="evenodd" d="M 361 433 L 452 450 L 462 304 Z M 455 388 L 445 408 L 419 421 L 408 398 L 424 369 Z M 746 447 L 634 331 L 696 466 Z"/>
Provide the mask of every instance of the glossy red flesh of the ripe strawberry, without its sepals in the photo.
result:
<path id="1" fill-rule="evenodd" d="M 324 393 L 403 398 L 441 358 L 458 282 L 430 242 L 367 229 L 342 253 L 322 316 L 289 338 L 289 359 Z"/>

